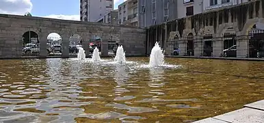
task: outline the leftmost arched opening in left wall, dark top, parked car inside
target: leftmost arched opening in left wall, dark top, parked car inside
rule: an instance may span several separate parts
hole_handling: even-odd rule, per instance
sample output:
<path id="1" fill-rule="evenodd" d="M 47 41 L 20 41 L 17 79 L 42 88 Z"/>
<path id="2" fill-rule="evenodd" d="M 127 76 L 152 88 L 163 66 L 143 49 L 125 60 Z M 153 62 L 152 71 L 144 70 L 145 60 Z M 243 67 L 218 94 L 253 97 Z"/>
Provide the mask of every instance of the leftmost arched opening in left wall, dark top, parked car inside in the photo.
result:
<path id="1" fill-rule="evenodd" d="M 40 40 L 35 31 L 27 31 L 23 34 L 23 55 L 39 55 L 40 54 Z"/>

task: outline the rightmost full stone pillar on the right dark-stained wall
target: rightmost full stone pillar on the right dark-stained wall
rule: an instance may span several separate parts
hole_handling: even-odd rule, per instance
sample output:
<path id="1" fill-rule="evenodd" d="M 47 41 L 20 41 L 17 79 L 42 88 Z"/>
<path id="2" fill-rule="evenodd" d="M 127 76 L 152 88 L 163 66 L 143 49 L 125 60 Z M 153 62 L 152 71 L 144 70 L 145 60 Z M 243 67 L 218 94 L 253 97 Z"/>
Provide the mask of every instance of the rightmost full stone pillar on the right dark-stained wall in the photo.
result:
<path id="1" fill-rule="evenodd" d="M 239 36 L 237 40 L 237 57 L 247 57 L 249 54 L 249 36 Z"/>

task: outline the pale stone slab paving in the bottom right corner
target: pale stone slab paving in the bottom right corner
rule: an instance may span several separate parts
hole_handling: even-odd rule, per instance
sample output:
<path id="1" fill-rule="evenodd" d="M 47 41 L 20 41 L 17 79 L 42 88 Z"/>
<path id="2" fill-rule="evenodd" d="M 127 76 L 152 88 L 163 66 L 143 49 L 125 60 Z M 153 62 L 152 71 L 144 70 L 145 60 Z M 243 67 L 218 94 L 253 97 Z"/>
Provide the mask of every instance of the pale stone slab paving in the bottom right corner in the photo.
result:
<path id="1" fill-rule="evenodd" d="M 264 100 L 244 105 L 238 109 L 213 118 L 198 120 L 193 123 L 264 123 Z"/>

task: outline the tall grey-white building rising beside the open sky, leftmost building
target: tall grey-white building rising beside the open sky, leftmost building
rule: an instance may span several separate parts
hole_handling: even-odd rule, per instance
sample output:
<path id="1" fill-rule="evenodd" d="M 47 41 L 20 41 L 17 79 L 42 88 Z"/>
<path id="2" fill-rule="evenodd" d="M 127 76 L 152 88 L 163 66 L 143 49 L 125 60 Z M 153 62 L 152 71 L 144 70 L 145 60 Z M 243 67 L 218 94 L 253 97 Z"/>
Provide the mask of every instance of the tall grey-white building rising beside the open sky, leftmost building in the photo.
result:
<path id="1" fill-rule="evenodd" d="M 96 22 L 114 10 L 114 0 L 80 0 L 80 20 Z"/>

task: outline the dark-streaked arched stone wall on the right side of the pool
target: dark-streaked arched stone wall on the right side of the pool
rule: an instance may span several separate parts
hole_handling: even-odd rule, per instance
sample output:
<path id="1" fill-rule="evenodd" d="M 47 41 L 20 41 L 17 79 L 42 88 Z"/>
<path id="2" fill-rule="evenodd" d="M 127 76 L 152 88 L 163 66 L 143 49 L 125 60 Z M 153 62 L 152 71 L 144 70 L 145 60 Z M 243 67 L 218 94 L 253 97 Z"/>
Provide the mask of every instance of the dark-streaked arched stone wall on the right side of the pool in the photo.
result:
<path id="1" fill-rule="evenodd" d="M 183 55 L 185 53 L 182 53 L 182 51 L 186 51 L 186 37 L 189 33 L 192 33 L 195 40 L 195 55 L 199 56 L 203 49 L 201 44 L 204 43 L 202 37 L 210 34 L 213 36 L 213 55 L 218 57 L 223 51 L 223 34 L 235 33 L 237 44 L 240 44 L 237 47 L 237 57 L 246 57 L 248 55 L 248 33 L 256 23 L 264 23 L 263 16 L 264 0 L 254 0 L 179 18 L 162 25 L 154 25 L 146 30 L 147 53 L 150 53 L 156 41 L 162 42 L 161 46 L 168 53 L 172 49 L 171 46 L 168 46 L 172 44 L 171 38 L 178 36 L 177 42 L 181 50 L 180 55 Z M 242 40 L 243 42 L 241 42 Z"/>

